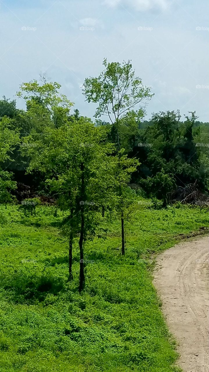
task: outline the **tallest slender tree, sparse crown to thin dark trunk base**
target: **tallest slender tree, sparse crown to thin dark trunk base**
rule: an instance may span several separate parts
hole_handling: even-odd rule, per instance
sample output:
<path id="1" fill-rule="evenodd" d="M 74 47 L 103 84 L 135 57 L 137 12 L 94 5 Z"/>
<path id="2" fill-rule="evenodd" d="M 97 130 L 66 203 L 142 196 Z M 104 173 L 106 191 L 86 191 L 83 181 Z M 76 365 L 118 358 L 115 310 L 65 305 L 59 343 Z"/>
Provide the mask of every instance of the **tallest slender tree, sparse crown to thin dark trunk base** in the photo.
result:
<path id="1" fill-rule="evenodd" d="M 121 156 L 120 149 L 125 146 L 128 148 L 129 134 L 133 118 L 142 118 L 145 110 L 138 108 L 143 100 L 149 100 L 153 96 L 150 87 L 144 86 L 142 80 L 135 77 L 132 70 L 131 61 L 127 63 L 103 61 L 105 70 L 98 77 L 86 78 L 83 84 L 83 94 L 88 102 L 98 103 L 95 117 L 102 115 L 109 117 L 112 123 L 112 141 L 115 143 L 118 156 Z M 137 108 L 137 109 L 136 109 Z M 135 110 L 134 110 L 135 109 Z M 136 134 L 136 126 L 134 127 Z M 135 136 L 134 134 L 134 136 Z M 120 161 L 118 162 L 120 173 Z M 119 180 L 120 182 L 120 180 Z M 123 199 L 121 187 L 118 188 L 118 197 Z M 123 203 L 123 206 L 125 203 Z M 124 245 L 124 219 L 123 208 L 121 208 L 121 234 L 122 234 L 122 254 L 125 253 Z"/>

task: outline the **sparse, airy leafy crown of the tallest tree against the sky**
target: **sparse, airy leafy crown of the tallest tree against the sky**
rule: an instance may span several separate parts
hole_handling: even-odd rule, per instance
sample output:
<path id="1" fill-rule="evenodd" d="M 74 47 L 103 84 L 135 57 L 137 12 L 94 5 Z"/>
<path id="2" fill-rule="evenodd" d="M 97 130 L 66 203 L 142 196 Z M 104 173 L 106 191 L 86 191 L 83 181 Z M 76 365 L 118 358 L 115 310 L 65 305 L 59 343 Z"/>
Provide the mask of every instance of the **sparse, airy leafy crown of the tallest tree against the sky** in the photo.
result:
<path id="1" fill-rule="evenodd" d="M 150 99 L 150 88 L 135 77 L 131 61 L 103 61 L 105 70 L 97 78 L 86 78 L 83 93 L 88 102 L 99 103 L 95 116 L 108 115 L 110 121 L 117 121 L 143 99 Z"/>

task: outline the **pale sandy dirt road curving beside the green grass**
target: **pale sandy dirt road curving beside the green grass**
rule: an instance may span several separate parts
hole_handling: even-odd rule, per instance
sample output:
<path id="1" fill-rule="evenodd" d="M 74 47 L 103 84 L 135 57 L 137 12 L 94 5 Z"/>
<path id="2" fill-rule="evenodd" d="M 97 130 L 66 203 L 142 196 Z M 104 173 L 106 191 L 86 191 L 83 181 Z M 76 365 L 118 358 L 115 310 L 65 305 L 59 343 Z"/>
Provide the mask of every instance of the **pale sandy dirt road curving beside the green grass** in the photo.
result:
<path id="1" fill-rule="evenodd" d="M 185 372 L 209 371 L 209 237 L 180 243 L 157 258 L 154 285 Z"/>

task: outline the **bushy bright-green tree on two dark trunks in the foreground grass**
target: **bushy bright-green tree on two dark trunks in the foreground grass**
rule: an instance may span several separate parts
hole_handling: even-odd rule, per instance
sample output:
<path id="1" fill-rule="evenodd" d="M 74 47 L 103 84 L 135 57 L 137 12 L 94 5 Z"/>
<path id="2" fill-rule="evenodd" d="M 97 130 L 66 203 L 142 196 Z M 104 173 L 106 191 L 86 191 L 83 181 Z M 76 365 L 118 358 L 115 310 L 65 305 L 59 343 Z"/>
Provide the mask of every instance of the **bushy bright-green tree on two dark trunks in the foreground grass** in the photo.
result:
<path id="1" fill-rule="evenodd" d="M 44 135 L 47 142 L 28 147 L 31 157 L 29 170 L 42 169 L 45 172 L 46 183 L 55 193 L 58 205 L 68 212 L 64 228 L 69 234 L 69 279 L 73 278 L 72 249 L 79 234 L 79 291 L 82 291 L 85 283 L 84 244 L 94 236 L 99 224 L 96 212 L 102 205 L 110 204 L 110 192 L 104 190 L 115 179 L 112 167 L 115 158 L 109 156 L 113 145 L 105 141 L 105 130 L 85 118 L 60 128 L 46 128 Z"/>

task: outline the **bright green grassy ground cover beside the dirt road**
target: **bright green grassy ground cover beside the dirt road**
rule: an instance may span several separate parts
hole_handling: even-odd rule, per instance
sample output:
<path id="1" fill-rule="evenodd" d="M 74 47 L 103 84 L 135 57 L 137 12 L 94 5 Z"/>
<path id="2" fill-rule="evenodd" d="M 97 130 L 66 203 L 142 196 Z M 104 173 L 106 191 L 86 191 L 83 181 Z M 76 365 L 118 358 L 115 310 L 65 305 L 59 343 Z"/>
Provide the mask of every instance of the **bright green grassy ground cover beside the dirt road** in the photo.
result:
<path id="1" fill-rule="evenodd" d="M 119 222 L 104 222 L 107 239 L 84 248 L 94 262 L 79 295 L 78 245 L 68 282 L 67 237 L 56 227 L 61 213 L 37 209 L 24 217 L 16 206 L 0 206 L 0 371 L 178 371 L 149 258 L 179 234 L 208 227 L 206 210 L 139 208 L 126 224 L 125 257 Z"/>

